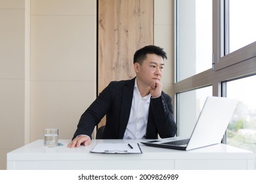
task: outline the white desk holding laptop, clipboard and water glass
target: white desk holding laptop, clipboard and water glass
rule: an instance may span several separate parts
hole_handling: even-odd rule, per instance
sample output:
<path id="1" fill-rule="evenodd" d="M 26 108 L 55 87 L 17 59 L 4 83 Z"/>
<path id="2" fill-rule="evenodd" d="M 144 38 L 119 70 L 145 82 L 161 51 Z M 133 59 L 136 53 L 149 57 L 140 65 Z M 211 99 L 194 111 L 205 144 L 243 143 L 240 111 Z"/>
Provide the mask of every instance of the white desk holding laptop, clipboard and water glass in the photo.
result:
<path id="1" fill-rule="evenodd" d="M 38 140 L 7 154 L 7 169 L 254 169 L 253 152 L 217 144 L 181 151 L 140 144 L 142 154 L 94 154 L 99 142 L 133 143 L 141 140 L 93 140 L 90 146 L 47 148 Z"/>

